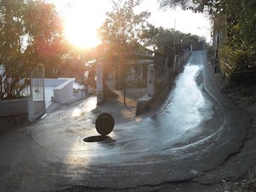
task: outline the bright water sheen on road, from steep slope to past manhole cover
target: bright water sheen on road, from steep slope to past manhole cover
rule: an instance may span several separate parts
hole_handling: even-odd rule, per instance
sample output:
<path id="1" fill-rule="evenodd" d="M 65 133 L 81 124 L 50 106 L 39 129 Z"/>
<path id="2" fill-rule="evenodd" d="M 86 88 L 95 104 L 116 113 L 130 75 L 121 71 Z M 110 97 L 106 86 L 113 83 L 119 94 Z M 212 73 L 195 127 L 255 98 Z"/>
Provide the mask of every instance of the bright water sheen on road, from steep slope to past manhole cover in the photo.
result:
<path id="1" fill-rule="evenodd" d="M 68 122 L 68 118 L 62 117 L 67 125 L 61 126 L 59 130 L 55 127 L 58 138 L 55 139 L 55 143 L 52 143 L 51 148 L 60 148 L 61 145 L 61 154 L 74 153 L 77 158 L 86 156 L 94 165 L 141 162 L 146 156 L 173 154 L 173 148 L 177 153 L 177 143 L 179 148 L 190 144 L 189 139 L 203 132 L 204 123 L 212 119 L 214 114 L 212 102 L 202 91 L 202 82 L 197 82 L 197 76 L 200 75 L 202 68 L 201 63 L 195 65 L 188 62 L 183 73 L 177 77 L 176 85 L 160 112 L 146 119 L 138 118 L 128 124 L 115 125 L 113 131 L 108 135 L 111 142 L 109 139 L 107 141 L 98 136 L 93 116 L 90 119 L 89 127 L 83 125 L 86 120 L 83 119 L 83 114 L 96 107 L 96 98 L 90 98 L 91 101 L 88 102 L 90 106 L 80 106 L 71 112 L 71 117 L 78 122 L 73 119 L 69 119 L 70 122 Z M 60 114 L 58 115 L 60 116 Z M 63 115 L 68 116 L 67 113 L 63 113 Z M 45 124 L 42 129 L 44 129 L 44 134 L 47 133 Z M 40 129 L 37 128 L 35 133 L 38 130 Z M 216 130 L 216 127 L 212 127 L 212 130 Z M 212 131 L 208 131 L 208 134 L 211 133 Z M 205 137 L 207 134 L 201 136 L 201 139 Z M 60 142 L 60 138 L 67 141 Z M 77 142 L 78 138 L 79 142 Z M 41 145 L 49 144 L 48 135 L 45 140 L 42 137 L 35 137 L 35 139 Z M 70 148 L 67 147 L 68 143 L 71 145 Z M 70 159 L 68 155 L 65 158 L 68 161 Z M 158 158 L 155 155 L 155 158 L 151 158 L 151 160 L 157 161 Z"/>

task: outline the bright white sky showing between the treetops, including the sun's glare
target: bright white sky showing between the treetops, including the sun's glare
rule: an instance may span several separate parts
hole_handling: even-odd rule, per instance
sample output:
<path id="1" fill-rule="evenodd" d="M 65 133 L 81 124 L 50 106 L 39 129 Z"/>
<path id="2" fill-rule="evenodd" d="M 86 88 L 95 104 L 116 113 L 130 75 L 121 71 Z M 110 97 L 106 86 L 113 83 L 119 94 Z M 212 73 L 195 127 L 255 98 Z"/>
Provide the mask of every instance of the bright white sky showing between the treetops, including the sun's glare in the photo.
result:
<path id="1" fill-rule="evenodd" d="M 65 31 L 71 44 L 79 48 L 91 48 L 100 43 L 96 29 L 105 20 L 106 11 L 111 9 L 108 0 L 48 0 L 56 4 L 58 12 L 65 18 Z M 71 6 L 69 8 L 69 6 Z M 205 15 L 194 14 L 181 9 L 163 11 L 157 0 L 143 0 L 140 8 L 151 13 L 149 22 L 154 26 L 175 28 L 184 33 L 196 34 L 210 42 L 210 21 Z M 88 27 L 90 26 L 90 27 Z"/>

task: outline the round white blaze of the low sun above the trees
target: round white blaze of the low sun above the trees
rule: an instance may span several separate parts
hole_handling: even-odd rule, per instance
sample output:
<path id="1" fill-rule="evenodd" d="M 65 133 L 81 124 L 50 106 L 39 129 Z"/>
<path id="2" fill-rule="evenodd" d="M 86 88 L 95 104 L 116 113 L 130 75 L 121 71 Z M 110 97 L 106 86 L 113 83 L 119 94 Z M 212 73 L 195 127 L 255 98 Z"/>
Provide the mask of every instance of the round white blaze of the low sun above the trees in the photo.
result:
<path id="1" fill-rule="evenodd" d="M 90 49 L 101 42 L 97 30 L 102 24 L 104 12 L 99 9 L 97 2 L 73 1 L 73 7 L 67 15 L 65 37 L 79 49 Z"/>

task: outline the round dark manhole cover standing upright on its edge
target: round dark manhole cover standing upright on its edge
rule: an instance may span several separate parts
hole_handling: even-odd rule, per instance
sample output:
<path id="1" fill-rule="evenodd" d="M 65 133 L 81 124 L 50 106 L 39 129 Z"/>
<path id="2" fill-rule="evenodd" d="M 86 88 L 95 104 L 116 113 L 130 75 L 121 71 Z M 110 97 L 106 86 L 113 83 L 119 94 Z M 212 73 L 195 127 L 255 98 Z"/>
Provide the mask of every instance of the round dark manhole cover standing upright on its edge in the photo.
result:
<path id="1" fill-rule="evenodd" d="M 113 131 L 114 119 L 109 113 L 102 113 L 96 119 L 96 131 L 102 136 L 107 136 Z"/>

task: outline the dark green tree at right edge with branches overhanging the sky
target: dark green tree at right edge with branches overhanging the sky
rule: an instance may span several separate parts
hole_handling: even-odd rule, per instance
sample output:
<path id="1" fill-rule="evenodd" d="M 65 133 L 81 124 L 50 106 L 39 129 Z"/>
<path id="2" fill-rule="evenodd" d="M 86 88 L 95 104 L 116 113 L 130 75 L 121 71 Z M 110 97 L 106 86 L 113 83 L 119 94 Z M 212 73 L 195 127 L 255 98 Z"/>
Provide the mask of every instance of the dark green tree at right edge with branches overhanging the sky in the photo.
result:
<path id="1" fill-rule="evenodd" d="M 207 11 L 214 21 L 214 34 L 219 35 L 219 59 L 234 70 L 256 67 L 256 2 L 255 0 L 159 0 L 162 8 L 181 6 L 195 12 Z"/>

